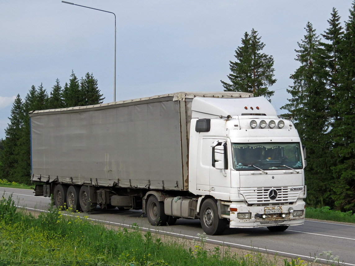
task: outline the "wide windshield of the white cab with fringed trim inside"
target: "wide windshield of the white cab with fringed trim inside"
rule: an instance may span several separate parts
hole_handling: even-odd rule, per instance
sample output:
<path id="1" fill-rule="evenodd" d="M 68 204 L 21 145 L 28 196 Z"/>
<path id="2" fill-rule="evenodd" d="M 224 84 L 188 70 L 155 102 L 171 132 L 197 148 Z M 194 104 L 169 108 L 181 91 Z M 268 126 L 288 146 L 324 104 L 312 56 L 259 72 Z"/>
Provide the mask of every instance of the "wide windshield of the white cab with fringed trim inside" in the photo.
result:
<path id="1" fill-rule="evenodd" d="M 232 143 L 232 153 L 235 170 L 303 168 L 299 143 Z"/>

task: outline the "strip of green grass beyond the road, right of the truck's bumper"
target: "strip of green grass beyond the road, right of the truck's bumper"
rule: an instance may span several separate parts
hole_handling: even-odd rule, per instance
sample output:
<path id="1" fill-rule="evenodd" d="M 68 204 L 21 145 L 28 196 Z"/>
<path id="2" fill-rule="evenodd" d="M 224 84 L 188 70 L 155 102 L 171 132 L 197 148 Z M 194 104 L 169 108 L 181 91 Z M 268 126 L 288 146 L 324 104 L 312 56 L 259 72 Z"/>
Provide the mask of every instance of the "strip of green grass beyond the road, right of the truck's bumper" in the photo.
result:
<path id="1" fill-rule="evenodd" d="M 352 211 L 341 212 L 331 210 L 330 207 L 324 206 L 322 208 L 306 208 L 306 218 L 355 223 L 355 214 Z"/>

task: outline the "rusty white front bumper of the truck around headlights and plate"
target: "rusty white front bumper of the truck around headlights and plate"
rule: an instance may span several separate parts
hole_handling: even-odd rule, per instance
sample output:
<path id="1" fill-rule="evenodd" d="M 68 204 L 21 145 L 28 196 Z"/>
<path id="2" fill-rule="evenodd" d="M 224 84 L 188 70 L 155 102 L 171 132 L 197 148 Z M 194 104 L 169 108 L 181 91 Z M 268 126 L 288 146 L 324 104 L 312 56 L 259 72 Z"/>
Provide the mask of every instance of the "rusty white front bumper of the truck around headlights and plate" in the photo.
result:
<path id="1" fill-rule="evenodd" d="M 265 214 L 265 207 L 276 207 L 282 209 L 280 214 L 269 214 L 265 218 L 262 216 Z M 290 212 L 290 208 L 293 210 L 303 210 L 303 215 L 294 217 Z M 235 201 L 229 206 L 230 211 L 229 219 L 231 228 L 252 228 L 252 227 L 265 227 L 265 226 L 294 226 L 302 225 L 305 221 L 305 202 L 302 199 L 298 199 L 295 204 L 292 205 L 270 205 L 270 206 L 247 206 L 244 202 Z M 239 219 L 238 213 L 251 213 L 251 219 Z M 260 215 L 260 216 L 259 216 Z M 285 217 L 281 217 L 285 215 Z"/>

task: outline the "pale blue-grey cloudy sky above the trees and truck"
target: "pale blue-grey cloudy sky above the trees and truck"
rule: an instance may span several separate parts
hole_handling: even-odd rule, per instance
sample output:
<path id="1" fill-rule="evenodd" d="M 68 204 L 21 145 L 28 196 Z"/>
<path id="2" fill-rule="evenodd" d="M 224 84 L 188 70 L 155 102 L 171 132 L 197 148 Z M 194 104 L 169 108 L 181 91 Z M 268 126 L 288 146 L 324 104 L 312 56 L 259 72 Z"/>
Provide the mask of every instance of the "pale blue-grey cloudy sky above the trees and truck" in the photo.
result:
<path id="1" fill-rule="evenodd" d="M 67 0 L 71 2 L 72 0 Z M 229 61 L 254 28 L 274 57 L 272 104 L 288 103 L 286 88 L 299 63 L 297 42 L 307 22 L 328 28 L 332 8 L 348 20 L 352 0 L 73 0 L 116 14 L 116 100 L 173 92 L 223 91 Z M 344 23 L 343 23 L 344 24 Z M 0 138 L 17 94 L 32 85 L 49 93 L 72 70 L 98 79 L 104 102 L 113 101 L 114 15 L 60 0 L 0 2 Z"/>

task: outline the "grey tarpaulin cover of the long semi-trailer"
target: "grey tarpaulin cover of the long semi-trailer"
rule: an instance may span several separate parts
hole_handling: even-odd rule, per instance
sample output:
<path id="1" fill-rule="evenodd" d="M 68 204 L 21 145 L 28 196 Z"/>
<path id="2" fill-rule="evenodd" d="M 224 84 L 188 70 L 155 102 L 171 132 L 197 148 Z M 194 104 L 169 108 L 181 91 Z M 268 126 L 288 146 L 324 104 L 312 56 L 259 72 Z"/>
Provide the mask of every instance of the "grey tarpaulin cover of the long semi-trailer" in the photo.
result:
<path id="1" fill-rule="evenodd" d="M 32 181 L 188 190 L 195 97 L 252 94 L 179 92 L 31 112 Z"/>

